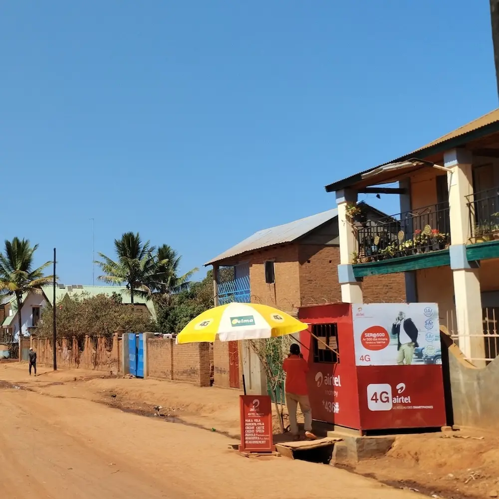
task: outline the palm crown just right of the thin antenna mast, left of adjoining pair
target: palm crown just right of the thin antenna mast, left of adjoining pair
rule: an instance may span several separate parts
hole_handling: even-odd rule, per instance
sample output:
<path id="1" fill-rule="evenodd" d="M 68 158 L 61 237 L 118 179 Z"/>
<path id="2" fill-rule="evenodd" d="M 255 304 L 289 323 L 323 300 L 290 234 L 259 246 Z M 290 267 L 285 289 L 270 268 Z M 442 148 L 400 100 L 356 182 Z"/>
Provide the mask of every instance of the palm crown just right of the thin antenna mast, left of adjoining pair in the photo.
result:
<path id="1" fill-rule="evenodd" d="M 150 276 L 156 273 L 157 268 L 157 261 L 153 256 L 155 248 L 150 246 L 149 241 L 142 243 L 139 233 L 133 232 L 127 232 L 121 236 L 121 239 L 115 239 L 114 248 L 116 260 L 99 253 L 103 261 L 95 263 L 105 275 L 99 275 L 98 278 L 110 284 L 126 283 L 133 304 L 134 294 L 151 292 Z"/>

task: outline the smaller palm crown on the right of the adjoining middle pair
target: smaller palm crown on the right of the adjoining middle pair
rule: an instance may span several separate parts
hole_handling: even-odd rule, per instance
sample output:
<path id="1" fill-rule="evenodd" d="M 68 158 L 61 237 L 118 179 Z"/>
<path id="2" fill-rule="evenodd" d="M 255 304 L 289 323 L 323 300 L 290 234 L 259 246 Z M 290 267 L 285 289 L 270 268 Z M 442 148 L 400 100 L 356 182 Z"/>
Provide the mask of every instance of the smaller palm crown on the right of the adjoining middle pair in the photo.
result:
<path id="1" fill-rule="evenodd" d="M 191 277 L 199 270 L 193 268 L 184 275 L 178 275 L 182 256 L 171 246 L 162 245 L 156 250 L 157 274 L 152 287 L 165 293 L 178 293 L 191 287 Z"/>

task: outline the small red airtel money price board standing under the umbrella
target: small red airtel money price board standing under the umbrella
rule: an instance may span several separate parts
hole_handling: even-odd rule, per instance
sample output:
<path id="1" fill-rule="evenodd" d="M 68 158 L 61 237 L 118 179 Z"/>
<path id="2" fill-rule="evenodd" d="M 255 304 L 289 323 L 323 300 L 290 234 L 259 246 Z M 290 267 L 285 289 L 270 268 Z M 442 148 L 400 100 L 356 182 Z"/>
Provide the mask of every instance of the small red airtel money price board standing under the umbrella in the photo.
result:
<path id="1" fill-rule="evenodd" d="M 241 395 L 241 452 L 272 452 L 272 402 L 268 395 Z"/>

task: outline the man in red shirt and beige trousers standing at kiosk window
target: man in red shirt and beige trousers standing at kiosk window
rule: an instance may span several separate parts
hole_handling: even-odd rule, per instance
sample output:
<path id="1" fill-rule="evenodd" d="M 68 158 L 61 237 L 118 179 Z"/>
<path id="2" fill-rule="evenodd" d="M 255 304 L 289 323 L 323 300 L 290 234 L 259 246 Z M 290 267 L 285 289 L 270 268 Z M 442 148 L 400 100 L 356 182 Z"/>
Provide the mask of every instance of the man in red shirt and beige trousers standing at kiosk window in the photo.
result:
<path id="1" fill-rule="evenodd" d="M 286 405 L 289 414 L 289 427 L 291 435 L 295 440 L 299 440 L 298 423 L 296 422 L 296 410 L 300 404 L 300 410 L 305 418 L 305 437 L 313 440 L 315 435 L 312 433 L 312 410 L 308 400 L 308 389 L 306 374 L 308 364 L 300 353 L 300 347 L 293 343 L 289 348 L 289 355 L 282 364 L 282 369 L 286 373 Z"/>

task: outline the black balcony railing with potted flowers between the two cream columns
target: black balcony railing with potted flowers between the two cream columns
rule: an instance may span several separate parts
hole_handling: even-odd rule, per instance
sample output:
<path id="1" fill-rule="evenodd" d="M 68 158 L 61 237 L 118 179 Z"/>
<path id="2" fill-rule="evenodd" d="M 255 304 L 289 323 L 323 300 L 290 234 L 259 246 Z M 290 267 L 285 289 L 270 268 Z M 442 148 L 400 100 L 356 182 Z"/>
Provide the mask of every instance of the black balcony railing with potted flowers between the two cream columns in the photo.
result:
<path id="1" fill-rule="evenodd" d="M 448 203 L 364 222 L 358 228 L 353 263 L 444 250 L 451 244 L 450 233 Z"/>

